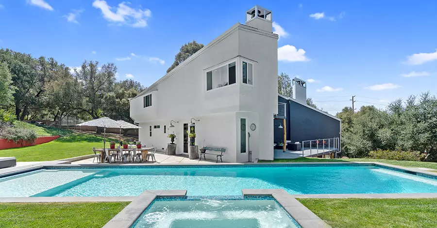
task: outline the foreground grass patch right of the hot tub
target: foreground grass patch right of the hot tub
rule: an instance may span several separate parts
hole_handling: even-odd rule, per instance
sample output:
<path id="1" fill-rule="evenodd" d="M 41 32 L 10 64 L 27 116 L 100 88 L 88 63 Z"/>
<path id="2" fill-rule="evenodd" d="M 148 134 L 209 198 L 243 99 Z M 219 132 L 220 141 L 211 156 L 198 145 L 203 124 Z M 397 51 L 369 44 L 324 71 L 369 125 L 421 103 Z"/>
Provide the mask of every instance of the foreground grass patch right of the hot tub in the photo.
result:
<path id="1" fill-rule="evenodd" d="M 298 199 L 333 228 L 437 228 L 437 199 Z"/>

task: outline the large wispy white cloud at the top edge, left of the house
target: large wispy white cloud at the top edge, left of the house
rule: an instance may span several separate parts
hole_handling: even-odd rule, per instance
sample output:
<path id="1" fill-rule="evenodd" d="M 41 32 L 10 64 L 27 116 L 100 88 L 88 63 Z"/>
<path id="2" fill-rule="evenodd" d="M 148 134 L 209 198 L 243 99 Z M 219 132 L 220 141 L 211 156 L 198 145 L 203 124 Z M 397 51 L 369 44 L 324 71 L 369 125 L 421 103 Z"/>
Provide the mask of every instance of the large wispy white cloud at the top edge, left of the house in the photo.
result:
<path id="1" fill-rule="evenodd" d="M 151 11 L 149 9 L 141 10 L 134 9 L 129 7 L 126 4 L 130 4 L 128 2 L 121 2 L 118 4 L 116 10 L 111 10 L 112 8 L 109 6 L 104 0 L 95 0 L 93 2 L 93 6 L 97 9 L 101 10 L 103 17 L 112 23 L 116 23 L 118 25 L 128 25 L 135 28 L 144 28 L 147 26 L 147 19 L 151 17 Z"/>

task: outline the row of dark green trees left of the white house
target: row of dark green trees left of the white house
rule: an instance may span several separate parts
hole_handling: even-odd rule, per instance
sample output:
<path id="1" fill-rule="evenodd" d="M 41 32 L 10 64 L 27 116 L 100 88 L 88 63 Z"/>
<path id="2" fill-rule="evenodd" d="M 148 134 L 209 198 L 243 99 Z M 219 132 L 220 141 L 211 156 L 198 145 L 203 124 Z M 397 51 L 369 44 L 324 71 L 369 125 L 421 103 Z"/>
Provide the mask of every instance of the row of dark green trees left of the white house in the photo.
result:
<path id="1" fill-rule="evenodd" d="M 128 99 L 144 87 L 132 79 L 116 81 L 116 74 L 112 62 L 84 61 L 71 69 L 53 58 L 0 49 L 1 113 L 20 121 L 107 116 L 132 122 Z"/>

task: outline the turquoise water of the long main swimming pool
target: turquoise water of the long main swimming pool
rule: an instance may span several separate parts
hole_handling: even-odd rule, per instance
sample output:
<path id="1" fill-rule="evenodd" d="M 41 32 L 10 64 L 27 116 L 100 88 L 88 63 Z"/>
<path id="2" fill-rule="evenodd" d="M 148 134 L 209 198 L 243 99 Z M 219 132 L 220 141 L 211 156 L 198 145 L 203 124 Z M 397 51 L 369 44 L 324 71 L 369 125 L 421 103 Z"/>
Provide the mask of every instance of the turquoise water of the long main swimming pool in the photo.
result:
<path id="1" fill-rule="evenodd" d="M 62 168 L 0 178 L 0 197 L 137 196 L 155 189 L 237 196 L 245 188 L 282 188 L 290 194 L 437 193 L 437 179 L 375 166 Z"/>

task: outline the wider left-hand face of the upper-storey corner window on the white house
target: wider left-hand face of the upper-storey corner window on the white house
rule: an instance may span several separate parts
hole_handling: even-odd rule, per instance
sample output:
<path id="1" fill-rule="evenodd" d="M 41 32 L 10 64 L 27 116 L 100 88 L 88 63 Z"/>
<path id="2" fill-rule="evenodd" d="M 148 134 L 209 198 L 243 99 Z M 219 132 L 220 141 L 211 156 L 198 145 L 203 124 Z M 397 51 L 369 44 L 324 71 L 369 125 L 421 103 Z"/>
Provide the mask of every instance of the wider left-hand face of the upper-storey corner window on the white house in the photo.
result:
<path id="1" fill-rule="evenodd" d="M 235 84 L 236 69 L 235 62 L 221 66 L 212 71 L 206 72 L 206 90 L 212 90 L 219 87 Z"/>

